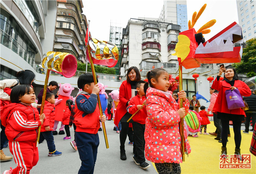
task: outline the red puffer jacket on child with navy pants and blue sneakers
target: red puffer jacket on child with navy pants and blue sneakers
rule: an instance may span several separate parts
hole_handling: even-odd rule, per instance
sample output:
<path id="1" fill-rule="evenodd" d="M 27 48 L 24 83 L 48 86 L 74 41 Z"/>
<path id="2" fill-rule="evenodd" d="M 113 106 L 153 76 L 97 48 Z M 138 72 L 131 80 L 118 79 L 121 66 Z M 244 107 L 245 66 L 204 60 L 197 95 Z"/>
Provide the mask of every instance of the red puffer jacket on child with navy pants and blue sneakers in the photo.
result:
<path id="1" fill-rule="evenodd" d="M 45 127 L 50 126 L 50 130 L 53 130 L 54 126 L 54 117 L 55 117 L 55 105 L 45 100 L 44 103 L 44 115 L 45 120 L 41 126 L 41 132 L 45 132 Z"/>

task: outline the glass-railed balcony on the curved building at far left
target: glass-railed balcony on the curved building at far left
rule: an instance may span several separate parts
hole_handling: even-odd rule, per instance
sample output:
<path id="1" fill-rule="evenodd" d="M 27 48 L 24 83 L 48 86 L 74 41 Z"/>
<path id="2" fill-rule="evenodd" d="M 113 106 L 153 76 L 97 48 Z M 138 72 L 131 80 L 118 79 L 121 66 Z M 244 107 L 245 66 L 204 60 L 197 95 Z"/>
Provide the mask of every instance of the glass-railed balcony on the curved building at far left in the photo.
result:
<path id="1" fill-rule="evenodd" d="M 4 31 L 0 31 L 1 35 L 1 44 L 5 47 L 11 49 L 14 53 L 18 54 L 22 59 L 24 59 L 33 69 L 36 69 L 35 63 L 35 54 L 32 54 L 31 51 L 26 51 L 27 49 L 23 48 L 15 39 Z"/>

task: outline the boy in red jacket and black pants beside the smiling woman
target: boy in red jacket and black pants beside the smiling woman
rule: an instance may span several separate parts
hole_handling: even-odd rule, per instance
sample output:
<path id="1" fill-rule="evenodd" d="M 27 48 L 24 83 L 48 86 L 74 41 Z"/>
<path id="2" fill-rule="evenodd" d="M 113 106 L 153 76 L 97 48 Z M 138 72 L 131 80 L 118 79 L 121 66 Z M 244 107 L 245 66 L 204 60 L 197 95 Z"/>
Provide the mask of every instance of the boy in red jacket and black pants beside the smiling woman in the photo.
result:
<path id="1" fill-rule="evenodd" d="M 137 93 L 137 96 L 133 97 L 130 100 L 130 103 L 127 107 L 127 111 L 130 114 L 134 114 L 139 110 L 132 117 L 133 137 L 134 137 L 134 141 L 136 142 L 136 151 L 135 151 L 135 154 L 132 156 L 132 159 L 135 162 L 135 164 L 140 165 L 140 168 L 145 170 L 145 169 L 148 169 L 150 165 L 146 163 L 145 155 L 144 155 L 144 147 L 145 147 L 144 132 L 145 132 L 145 121 L 147 118 L 144 83 L 146 82 L 143 80 L 140 80 L 136 83 L 136 90 L 138 91 L 138 93 Z"/>

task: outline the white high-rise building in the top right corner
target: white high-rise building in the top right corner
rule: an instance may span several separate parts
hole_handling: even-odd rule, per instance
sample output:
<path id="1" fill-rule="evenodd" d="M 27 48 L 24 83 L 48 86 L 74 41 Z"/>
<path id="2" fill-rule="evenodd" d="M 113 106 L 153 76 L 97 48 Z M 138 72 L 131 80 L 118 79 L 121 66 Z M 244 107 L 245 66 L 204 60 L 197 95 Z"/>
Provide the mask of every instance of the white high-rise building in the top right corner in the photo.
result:
<path id="1" fill-rule="evenodd" d="M 254 0 L 236 1 L 239 25 L 242 26 L 244 42 L 256 36 L 256 14 Z"/>

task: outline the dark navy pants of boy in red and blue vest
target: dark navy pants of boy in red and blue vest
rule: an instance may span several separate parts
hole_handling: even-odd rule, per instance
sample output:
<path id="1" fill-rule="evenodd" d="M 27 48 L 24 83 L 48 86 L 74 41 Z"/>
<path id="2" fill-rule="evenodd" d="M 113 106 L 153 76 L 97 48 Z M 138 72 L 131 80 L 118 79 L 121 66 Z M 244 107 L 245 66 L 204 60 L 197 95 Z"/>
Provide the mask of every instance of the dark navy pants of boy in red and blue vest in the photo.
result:
<path id="1" fill-rule="evenodd" d="M 82 162 L 78 174 L 93 173 L 99 144 L 100 139 L 98 133 L 88 134 L 85 132 L 76 132 L 76 146 Z"/>

